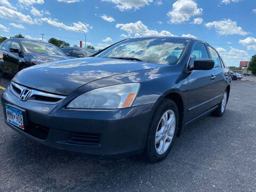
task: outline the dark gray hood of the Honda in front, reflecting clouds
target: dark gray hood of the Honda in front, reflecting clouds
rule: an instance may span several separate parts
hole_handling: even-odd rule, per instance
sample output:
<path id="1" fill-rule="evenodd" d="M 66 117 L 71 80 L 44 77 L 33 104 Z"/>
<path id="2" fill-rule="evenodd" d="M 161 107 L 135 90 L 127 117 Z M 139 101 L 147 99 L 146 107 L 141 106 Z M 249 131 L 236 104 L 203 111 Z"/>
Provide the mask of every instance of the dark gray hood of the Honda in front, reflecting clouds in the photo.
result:
<path id="1" fill-rule="evenodd" d="M 97 79 L 163 66 L 166 65 L 121 59 L 69 59 L 23 69 L 12 81 L 37 90 L 69 95 Z"/>

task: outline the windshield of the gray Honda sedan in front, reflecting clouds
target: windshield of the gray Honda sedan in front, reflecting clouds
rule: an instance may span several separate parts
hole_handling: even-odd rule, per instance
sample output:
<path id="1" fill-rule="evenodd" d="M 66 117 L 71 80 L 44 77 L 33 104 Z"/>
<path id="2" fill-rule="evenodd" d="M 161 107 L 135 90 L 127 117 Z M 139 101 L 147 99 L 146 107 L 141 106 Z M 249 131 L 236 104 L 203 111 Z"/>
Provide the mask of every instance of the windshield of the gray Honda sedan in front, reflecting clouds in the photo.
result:
<path id="1" fill-rule="evenodd" d="M 134 38 L 117 43 L 95 57 L 132 59 L 175 65 L 188 43 L 179 38 Z"/>

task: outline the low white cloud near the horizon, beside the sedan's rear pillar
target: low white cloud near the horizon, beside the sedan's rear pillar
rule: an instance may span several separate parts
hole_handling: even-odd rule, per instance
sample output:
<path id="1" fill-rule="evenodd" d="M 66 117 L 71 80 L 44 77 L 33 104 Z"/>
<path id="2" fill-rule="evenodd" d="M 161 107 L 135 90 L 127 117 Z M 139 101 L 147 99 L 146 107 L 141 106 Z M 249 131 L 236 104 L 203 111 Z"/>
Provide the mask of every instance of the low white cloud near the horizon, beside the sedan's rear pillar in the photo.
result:
<path id="1" fill-rule="evenodd" d="M 231 46 L 229 49 L 229 51 L 223 49 L 222 47 L 218 47 L 216 49 L 228 66 L 238 66 L 240 61 L 250 59 L 249 54 L 244 50 L 238 50 Z"/>

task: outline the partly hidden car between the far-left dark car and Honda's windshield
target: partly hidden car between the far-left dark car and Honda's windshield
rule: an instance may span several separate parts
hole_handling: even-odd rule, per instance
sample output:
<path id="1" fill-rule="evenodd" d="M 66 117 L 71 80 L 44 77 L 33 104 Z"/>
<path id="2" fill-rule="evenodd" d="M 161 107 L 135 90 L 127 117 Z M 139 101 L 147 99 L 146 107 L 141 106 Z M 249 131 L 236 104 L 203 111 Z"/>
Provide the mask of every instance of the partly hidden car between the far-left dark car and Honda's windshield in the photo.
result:
<path id="1" fill-rule="evenodd" d="M 98 52 L 92 49 L 86 49 L 82 47 L 64 47 L 61 50 L 71 58 L 90 57 L 91 55 Z"/>

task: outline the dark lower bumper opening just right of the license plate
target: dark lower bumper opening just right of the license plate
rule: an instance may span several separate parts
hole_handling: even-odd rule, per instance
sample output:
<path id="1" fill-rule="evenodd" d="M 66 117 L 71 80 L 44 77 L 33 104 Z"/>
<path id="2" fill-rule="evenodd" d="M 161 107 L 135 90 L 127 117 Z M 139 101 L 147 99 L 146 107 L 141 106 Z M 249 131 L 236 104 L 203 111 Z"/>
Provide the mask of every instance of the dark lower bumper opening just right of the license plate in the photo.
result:
<path id="1" fill-rule="evenodd" d="M 49 128 L 44 127 L 32 122 L 28 122 L 28 125 L 25 127 L 25 133 L 32 135 L 35 138 L 45 140 L 49 133 Z"/>

